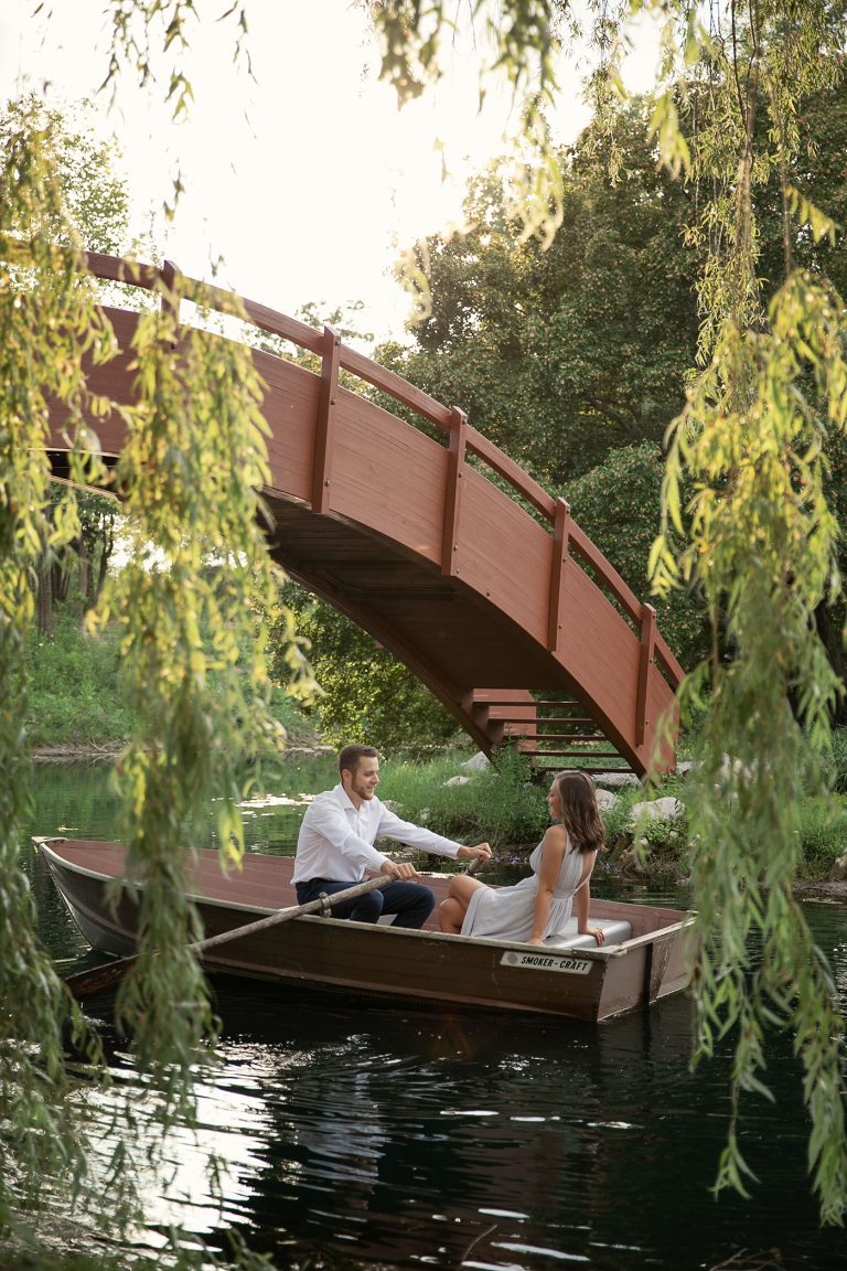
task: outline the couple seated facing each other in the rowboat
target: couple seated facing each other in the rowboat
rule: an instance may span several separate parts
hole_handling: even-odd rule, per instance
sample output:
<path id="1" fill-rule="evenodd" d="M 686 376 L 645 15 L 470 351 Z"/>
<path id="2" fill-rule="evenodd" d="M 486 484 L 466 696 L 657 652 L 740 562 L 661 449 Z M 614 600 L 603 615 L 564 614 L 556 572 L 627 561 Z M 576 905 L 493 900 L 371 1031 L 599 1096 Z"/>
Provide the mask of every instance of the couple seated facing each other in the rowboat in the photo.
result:
<path id="1" fill-rule="evenodd" d="M 302 905 L 325 894 L 347 891 L 366 873 L 392 880 L 378 891 L 331 906 L 333 918 L 376 923 L 394 914 L 394 925 L 420 928 L 436 897 L 409 863 L 391 860 L 373 846 L 387 836 L 410 848 L 453 859 L 488 860 L 488 843 L 467 848 L 432 830 L 403 821 L 376 797 L 380 756 L 372 746 L 344 746 L 338 756 L 339 784 L 317 794 L 300 827 L 293 883 Z M 514 887 L 489 887 L 470 874 L 453 874 L 438 909 L 442 932 L 488 935 L 542 944 L 575 910 L 580 933 L 603 943 L 599 927 L 588 923 L 588 880 L 603 845 L 603 826 L 587 773 L 559 773 L 547 794 L 551 825 L 530 857 L 532 873 Z"/>

